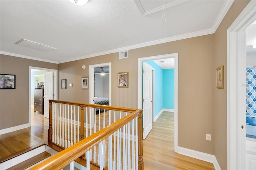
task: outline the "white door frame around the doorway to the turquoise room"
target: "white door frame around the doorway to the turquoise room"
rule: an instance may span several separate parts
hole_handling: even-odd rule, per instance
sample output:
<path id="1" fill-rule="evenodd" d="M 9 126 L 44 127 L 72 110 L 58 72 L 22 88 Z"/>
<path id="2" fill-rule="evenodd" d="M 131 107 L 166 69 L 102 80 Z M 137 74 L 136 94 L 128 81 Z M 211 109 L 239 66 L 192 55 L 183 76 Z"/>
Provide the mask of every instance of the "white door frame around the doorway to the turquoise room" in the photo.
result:
<path id="1" fill-rule="evenodd" d="M 138 58 L 138 109 L 142 109 L 142 64 L 154 59 L 174 58 L 174 151 L 178 152 L 178 53 Z M 154 120 L 154 116 L 153 116 Z"/>

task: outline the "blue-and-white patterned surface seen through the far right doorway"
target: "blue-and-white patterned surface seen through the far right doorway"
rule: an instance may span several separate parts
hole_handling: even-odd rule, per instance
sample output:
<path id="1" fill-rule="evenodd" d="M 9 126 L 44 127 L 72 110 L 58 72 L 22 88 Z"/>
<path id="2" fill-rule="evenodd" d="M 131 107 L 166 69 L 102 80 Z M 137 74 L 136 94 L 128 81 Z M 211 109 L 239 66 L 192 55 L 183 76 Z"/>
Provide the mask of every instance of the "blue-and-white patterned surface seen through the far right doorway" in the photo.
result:
<path id="1" fill-rule="evenodd" d="M 246 115 L 256 115 L 256 67 L 246 67 Z"/>

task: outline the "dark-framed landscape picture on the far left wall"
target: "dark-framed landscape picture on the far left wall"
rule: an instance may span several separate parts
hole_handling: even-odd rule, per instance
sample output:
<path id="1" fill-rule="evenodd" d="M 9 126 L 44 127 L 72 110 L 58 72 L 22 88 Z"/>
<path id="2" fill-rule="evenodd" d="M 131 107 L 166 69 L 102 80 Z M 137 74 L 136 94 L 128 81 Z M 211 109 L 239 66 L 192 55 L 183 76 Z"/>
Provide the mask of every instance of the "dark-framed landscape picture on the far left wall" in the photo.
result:
<path id="1" fill-rule="evenodd" d="M 0 74 L 0 89 L 15 89 L 15 75 Z"/>

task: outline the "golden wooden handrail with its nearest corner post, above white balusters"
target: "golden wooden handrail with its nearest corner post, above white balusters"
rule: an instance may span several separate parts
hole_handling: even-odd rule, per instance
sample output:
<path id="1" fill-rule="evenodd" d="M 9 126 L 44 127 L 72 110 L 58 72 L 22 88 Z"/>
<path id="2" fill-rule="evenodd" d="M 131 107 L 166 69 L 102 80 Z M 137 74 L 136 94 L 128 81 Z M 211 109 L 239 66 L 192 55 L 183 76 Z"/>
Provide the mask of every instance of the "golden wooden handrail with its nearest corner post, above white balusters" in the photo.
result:
<path id="1" fill-rule="evenodd" d="M 55 103 L 65 103 L 65 104 L 72 104 L 72 105 L 82 105 L 85 107 L 96 107 L 94 104 L 84 104 L 84 103 L 75 103 L 75 102 L 66 102 L 66 101 L 53 101 L 49 100 L 50 106 L 52 102 Z M 97 105 L 98 106 L 98 105 Z M 143 159 L 142 159 L 142 109 L 130 109 L 130 108 L 123 108 L 123 107 L 110 107 L 110 106 L 102 106 L 97 108 L 108 108 L 109 110 L 121 110 L 121 111 L 132 111 L 129 115 L 123 117 L 122 119 L 119 119 L 118 121 L 112 123 L 110 126 L 103 128 L 102 130 L 88 136 L 87 138 L 84 138 L 80 142 L 70 146 L 69 148 L 66 148 L 65 150 L 59 152 L 58 154 L 52 156 L 51 158 L 45 160 L 44 162 L 34 166 L 31 168 L 31 170 L 38 170 L 38 169 L 46 169 L 46 170 L 52 170 L 52 169 L 62 169 L 70 162 L 76 160 L 79 156 L 82 154 L 85 154 L 85 152 L 89 151 L 91 148 L 93 148 L 95 145 L 99 144 L 102 140 L 106 139 L 108 136 L 113 134 L 116 130 L 120 129 L 132 119 L 138 117 L 138 158 L 139 158 L 139 170 L 144 169 Z"/>

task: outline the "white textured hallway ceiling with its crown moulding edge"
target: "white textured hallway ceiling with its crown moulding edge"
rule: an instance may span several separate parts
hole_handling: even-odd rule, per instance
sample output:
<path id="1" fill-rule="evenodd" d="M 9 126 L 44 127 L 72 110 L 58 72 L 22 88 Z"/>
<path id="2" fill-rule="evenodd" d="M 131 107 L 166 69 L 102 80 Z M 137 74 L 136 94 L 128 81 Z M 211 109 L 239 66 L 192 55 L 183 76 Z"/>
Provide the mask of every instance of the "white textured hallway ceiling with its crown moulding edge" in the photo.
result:
<path id="1" fill-rule="evenodd" d="M 68 0 L 1 0 L 0 51 L 63 63 L 212 34 L 233 1 L 160 2 L 166 7 L 166 22 L 162 22 L 162 10 L 144 15 L 138 1 L 133 0 L 89 0 L 84 6 Z M 148 10 L 159 7 L 155 5 L 159 1 L 143 0 L 143 3 Z M 46 52 L 15 44 L 22 38 L 57 50 Z"/>

